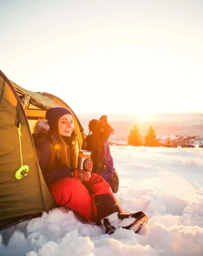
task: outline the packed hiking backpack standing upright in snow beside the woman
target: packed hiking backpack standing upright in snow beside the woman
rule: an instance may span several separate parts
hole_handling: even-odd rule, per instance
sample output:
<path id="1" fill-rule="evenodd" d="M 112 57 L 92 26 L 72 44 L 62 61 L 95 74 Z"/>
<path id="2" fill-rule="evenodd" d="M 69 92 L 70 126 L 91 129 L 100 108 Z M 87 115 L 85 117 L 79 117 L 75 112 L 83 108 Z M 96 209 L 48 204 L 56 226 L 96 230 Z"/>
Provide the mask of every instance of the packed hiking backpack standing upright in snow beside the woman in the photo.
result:
<path id="1" fill-rule="evenodd" d="M 114 129 L 108 124 L 107 116 L 89 122 L 89 134 L 84 140 L 83 149 L 91 151 L 93 173 L 100 174 L 111 186 L 113 193 L 118 192 L 119 178 L 114 168 L 108 139 Z"/>

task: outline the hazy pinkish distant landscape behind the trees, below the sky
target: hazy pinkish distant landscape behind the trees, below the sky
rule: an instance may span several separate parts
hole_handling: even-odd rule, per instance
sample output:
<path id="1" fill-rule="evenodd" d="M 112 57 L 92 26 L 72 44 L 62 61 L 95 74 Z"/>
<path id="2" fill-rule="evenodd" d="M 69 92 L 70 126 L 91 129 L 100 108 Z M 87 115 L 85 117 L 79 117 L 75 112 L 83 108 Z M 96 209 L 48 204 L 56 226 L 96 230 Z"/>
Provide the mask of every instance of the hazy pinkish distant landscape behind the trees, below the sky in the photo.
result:
<path id="1" fill-rule="evenodd" d="M 102 114 L 77 114 L 85 134 L 89 133 L 88 124 L 92 119 L 99 119 Z M 157 114 L 148 119 L 139 119 L 135 115 L 107 114 L 108 123 L 114 134 L 110 141 L 127 142 L 128 135 L 136 124 L 141 136 L 145 136 L 150 126 L 154 128 L 157 138 L 167 135 L 200 136 L 203 138 L 203 113 Z"/>

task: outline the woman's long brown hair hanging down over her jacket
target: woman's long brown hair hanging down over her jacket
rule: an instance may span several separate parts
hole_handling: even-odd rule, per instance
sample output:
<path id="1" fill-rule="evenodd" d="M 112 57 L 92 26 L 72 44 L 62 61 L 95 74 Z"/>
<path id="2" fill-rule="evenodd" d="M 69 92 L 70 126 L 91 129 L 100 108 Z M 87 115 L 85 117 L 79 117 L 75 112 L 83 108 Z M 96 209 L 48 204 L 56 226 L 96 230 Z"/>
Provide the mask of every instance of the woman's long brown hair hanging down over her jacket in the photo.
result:
<path id="1" fill-rule="evenodd" d="M 52 125 L 52 128 L 50 127 L 49 133 L 52 131 L 56 134 L 59 142 L 56 143 L 53 141 L 53 139 L 51 139 L 51 155 L 47 169 L 51 169 L 51 167 L 54 164 L 54 161 L 56 160 L 56 157 L 59 159 L 61 167 L 68 166 L 71 168 L 76 168 L 79 146 L 75 135 L 75 131 L 73 131 L 71 134 L 71 152 L 69 146 L 66 145 L 65 141 L 62 139 L 60 133 L 58 132 L 58 121 Z"/>

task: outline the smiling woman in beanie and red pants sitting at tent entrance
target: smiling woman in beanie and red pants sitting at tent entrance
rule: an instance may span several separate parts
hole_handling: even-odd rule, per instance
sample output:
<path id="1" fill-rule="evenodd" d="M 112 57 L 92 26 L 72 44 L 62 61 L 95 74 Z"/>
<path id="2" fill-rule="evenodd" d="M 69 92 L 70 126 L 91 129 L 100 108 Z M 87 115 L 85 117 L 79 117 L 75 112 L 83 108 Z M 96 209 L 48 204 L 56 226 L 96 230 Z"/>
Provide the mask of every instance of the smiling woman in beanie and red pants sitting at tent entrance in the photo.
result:
<path id="1" fill-rule="evenodd" d="M 55 107 L 46 112 L 46 121 L 36 124 L 33 139 L 44 180 L 56 203 L 79 214 L 86 222 L 102 224 L 112 234 L 119 227 L 138 232 L 147 222 L 144 212 L 122 213 L 109 184 L 91 173 L 90 159 L 77 170 L 78 143 L 73 114 Z"/>

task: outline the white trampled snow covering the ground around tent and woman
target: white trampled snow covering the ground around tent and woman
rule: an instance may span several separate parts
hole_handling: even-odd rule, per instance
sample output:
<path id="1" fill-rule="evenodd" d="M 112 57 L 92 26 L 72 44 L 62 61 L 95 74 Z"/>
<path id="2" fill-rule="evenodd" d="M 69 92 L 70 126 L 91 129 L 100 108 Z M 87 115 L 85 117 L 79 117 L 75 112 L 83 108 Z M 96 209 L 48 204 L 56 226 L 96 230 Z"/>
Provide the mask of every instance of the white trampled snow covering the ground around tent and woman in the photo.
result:
<path id="1" fill-rule="evenodd" d="M 110 146 L 124 212 L 143 210 L 135 234 L 108 235 L 63 208 L 0 233 L 3 256 L 202 256 L 203 148 Z"/>

